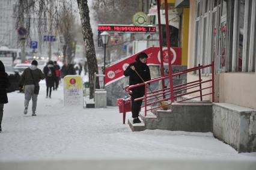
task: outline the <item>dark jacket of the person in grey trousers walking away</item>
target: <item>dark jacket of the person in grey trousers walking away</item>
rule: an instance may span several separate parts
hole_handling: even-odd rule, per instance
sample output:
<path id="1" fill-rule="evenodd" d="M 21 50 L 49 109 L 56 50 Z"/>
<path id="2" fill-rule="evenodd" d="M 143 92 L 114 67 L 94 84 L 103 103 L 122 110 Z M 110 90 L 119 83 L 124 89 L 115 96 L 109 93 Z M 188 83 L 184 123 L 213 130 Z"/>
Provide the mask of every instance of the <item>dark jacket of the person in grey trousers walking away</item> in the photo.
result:
<path id="1" fill-rule="evenodd" d="M 22 76 L 20 77 L 19 84 L 20 85 L 34 85 L 34 84 L 39 85 L 38 82 L 40 82 L 40 80 L 43 80 L 43 79 L 44 79 L 44 74 L 42 73 L 42 71 L 39 68 L 37 68 L 35 65 L 31 65 L 31 67 L 28 67 L 23 71 Z"/>

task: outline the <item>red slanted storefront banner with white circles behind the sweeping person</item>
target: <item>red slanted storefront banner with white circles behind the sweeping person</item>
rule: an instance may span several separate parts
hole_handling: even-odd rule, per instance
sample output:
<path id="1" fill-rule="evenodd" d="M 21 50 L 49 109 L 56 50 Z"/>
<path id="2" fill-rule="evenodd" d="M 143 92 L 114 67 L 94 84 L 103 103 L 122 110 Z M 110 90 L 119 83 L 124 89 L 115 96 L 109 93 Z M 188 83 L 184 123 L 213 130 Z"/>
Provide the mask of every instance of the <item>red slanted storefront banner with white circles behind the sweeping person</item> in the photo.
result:
<path id="1" fill-rule="evenodd" d="M 148 55 L 147 65 L 160 65 L 159 47 L 149 47 L 141 52 L 145 52 Z M 124 77 L 124 70 L 126 70 L 130 63 L 135 62 L 135 58 L 139 53 L 121 59 L 117 63 L 112 64 L 110 67 L 106 67 L 105 86 Z M 172 65 L 181 65 L 181 48 L 171 48 L 171 63 Z M 167 48 L 163 48 L 163 64 L 168 65 Z"/>

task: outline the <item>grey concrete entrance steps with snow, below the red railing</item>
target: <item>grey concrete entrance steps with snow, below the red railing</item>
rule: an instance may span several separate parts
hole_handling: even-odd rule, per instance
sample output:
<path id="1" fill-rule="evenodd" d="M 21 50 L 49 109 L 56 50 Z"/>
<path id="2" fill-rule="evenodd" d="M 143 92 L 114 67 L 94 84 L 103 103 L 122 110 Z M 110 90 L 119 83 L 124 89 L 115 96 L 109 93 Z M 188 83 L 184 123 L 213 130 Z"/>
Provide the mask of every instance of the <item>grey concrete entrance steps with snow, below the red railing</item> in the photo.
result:
<path id="1" fill-rule="evenodd" d="M 141 112 L 143 123 L 128 121 L 132 131 L 145 129 L 181 130 L 186 132 L 212 132 L 212 103 L 173 103 L 167 111 L 156 114 Z"/>

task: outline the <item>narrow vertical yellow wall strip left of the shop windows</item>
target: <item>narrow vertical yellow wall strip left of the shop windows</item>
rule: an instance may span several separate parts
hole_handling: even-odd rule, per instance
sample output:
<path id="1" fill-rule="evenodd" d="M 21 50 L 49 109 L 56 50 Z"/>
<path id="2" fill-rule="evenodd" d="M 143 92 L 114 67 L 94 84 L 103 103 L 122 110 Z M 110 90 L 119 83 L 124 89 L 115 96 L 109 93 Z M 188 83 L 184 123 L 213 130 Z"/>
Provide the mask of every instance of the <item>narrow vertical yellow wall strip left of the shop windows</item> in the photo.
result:
<path id="1" fill-rule="evenodd" d="M 187 50 L 189 41 L 189 8 L 183 8 L 181 65 L 187 65 Z"/>

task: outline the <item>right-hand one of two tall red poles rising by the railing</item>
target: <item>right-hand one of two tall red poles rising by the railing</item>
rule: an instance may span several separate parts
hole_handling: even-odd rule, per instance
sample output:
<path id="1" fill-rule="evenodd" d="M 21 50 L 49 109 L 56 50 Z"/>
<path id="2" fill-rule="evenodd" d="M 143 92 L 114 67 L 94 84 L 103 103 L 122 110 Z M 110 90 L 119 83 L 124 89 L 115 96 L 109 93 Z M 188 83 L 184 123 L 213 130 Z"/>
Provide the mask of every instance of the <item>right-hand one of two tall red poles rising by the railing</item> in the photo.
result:
<path id="1" fill-rule="evenodd" d="M 169 18 L 168 18 L 168 3 L 165 0 L 165 28 L 166 28 L 166 41 L 168 50 L 168 65 L 169 65 L 169 82 L 170 82 L 170 92 L 171 92 L 171 103 L 174 102 L 173 98 L 173 84 L 172 84 L 172 67 L 171 67 L 171 43 L 169 38 Z"/>

